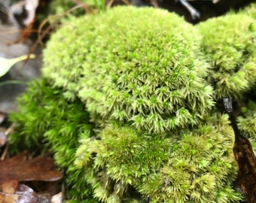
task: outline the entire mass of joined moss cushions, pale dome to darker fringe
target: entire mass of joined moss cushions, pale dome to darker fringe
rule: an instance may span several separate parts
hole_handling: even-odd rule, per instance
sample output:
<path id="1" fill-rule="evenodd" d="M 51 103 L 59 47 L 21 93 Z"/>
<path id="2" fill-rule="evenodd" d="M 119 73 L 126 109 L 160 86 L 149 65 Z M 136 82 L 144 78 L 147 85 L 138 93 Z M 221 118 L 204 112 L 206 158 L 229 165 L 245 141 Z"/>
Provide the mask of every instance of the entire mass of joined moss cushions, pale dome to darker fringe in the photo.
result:
<path id="1" fill-rule="evenodd" d="M 133 7 L 66 20 L 11 115 L 13 149 L 52 150 L 72 202 L 242 201 L 218 99 L 239 98 L 239 128 L 254 132 L 254 99 L 245 102 L 255 86 L 253 20 L 227 14 L 192 26 Z"/>

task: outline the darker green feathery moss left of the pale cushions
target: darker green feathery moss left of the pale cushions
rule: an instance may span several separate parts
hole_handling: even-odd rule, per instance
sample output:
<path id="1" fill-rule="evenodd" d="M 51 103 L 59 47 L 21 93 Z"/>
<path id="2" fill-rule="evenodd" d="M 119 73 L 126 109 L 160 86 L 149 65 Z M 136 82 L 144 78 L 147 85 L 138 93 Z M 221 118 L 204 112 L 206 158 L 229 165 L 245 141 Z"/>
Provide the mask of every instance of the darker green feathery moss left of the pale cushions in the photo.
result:
<path id="1" fill-rule="evenodd" d="M 11 114 L 17 123 L 10 138 L 11 150 L 52 151 L 66 173 L 67 198 L 90 197 L 84 171 L 73 164 L 78 139 L 91 134 L 84 105 L 78 100 L 67 102 L 62 89 L 52 89 L 47 80 L 35 80 L 18 99 L 18 107 L 20 111 Z"/>

